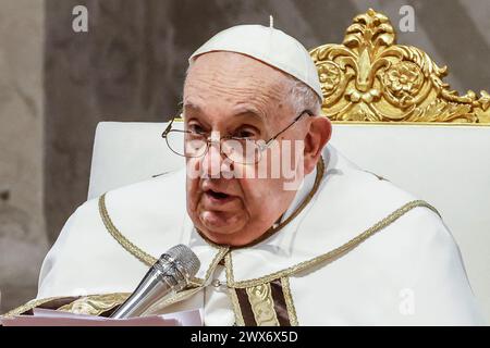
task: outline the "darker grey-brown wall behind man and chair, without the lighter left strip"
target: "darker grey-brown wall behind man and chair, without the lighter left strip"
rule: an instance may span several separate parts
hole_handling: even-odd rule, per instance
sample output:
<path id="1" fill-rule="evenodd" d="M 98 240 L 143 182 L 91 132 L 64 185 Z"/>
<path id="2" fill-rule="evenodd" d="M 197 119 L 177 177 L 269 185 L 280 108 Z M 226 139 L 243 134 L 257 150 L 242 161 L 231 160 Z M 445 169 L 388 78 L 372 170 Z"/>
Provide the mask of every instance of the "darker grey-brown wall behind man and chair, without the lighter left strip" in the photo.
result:
<path id="1" fill-rule="evenodd" d="M 84 4 L 89 32 L 70 29 Z M 217 32 L 260 23 L 310 49 L 341 42 L 352 18 L 372 7 L 395 27 L 415 10 L 415 30 L 399 42 L 426 50 L 456 90 L 489 89 L 488 0 L 47 0 L 46 207 L 50 240 L 86 198 L 95 127 L 100 121 L 163 121 L 176 111 L 187 57 Z"/>

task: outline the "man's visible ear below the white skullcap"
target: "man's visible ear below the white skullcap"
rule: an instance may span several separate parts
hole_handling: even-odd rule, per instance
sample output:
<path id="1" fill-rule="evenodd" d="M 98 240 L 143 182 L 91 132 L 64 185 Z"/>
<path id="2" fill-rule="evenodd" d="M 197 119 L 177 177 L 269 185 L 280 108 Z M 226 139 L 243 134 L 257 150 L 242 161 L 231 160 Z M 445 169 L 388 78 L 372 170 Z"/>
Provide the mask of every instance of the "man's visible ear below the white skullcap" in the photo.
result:
<path id="1" fill-rule="evenodd" d="M 313 172 L 321 156 L 321 150 L 329 142 L 332 135 L 332 124 L 326 116 L 314 116 L 305 136 L 305 174 Z"/>

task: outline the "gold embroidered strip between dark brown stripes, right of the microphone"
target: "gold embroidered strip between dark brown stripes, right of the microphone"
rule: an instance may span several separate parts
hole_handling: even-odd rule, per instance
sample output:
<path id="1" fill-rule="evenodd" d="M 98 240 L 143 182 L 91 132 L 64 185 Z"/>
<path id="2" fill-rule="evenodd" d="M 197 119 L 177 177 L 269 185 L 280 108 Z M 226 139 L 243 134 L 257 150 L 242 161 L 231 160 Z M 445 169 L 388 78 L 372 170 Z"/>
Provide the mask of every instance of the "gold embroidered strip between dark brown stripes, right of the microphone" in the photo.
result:
<path id="1" fill-rule="evenodd" d="M 246 293 L 257 326 L 280 326 L 270 284 L 247 287 Z"/>

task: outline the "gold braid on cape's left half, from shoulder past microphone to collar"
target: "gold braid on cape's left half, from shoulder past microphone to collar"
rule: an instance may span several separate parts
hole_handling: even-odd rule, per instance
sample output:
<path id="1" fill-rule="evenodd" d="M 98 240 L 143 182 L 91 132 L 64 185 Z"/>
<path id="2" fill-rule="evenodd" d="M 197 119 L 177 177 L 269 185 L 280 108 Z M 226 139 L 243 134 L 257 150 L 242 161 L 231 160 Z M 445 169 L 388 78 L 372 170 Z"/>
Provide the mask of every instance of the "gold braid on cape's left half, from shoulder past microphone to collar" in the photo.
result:
<path id="1" fill-rule="evenodd" d="M 143 251 L 140 248 L 138 248 L 134 243 L 132 243 L 130 239 L 127 239 L 113 224 L 109 212 L 106 207 L 106 194 L 100 196 L 99 198 L 99 214 L 102 219 L 103 225 L 106 226 L 106 229 L 109 232 L 109 234 L 132 256 L 134 256 L 136 259 L 138 259 L 140 262 L 146 264 L 147 266 L 154 265 L 155 262 L 158 261 L 157 258 L 152 257 L 151 254 Z M 195 287 L 200 287 L 204 285 L 205 281 L 209 278 L 211 275 L 211 271 L 216 268 L 216 264 L 223 258 L 224 253 L 228 252 L 228 247 L 220 247 L 218 246 L 219 250 L 217 254 L 215 256 L 213 261 L 211 262 L 211 265 L 206 271 L 205 279 L 193 277 L 189 281 L 189 285 Z M 218 259 L 219 258 L 219 259 Z"/>

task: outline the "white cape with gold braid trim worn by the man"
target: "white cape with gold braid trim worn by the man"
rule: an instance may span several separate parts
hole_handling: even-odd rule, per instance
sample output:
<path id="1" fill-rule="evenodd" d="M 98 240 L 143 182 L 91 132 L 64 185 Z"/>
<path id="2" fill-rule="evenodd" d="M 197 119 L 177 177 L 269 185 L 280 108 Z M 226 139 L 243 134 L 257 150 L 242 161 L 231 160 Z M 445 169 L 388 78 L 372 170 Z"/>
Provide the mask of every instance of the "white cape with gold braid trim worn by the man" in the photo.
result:
<path id="1" fill-rule="evenodd" d="M 201 262 L 194 285 L 149 313 L 203 308 L 206 325 L 483 324 L 437 211 L 331 146 L 323 161 L 318 188 L 317 167 L 283 221 L 313 192 L 304 209 L 246 248 L 216 246 L 196 232 L 185 169 L 89 200 L 68 220 L 42 264 L 37 299 L 22 310 L 48 303 L 108 313 L 152 258 L 184 244 Z"/>

